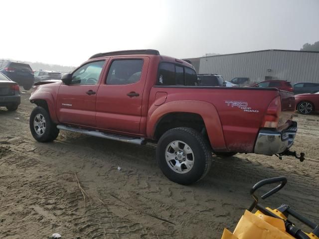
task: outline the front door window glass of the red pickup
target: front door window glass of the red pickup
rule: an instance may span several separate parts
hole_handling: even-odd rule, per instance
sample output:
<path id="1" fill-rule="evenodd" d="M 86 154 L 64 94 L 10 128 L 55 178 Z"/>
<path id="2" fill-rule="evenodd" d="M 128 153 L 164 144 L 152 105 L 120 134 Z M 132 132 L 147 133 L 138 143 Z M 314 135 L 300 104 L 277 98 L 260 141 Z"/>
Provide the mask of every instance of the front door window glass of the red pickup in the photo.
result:
<path id="1" fill-rule="evenodd" d="M 90 62 L 72 74 L 71 85 L 96 85 L 105 61 Z"/>

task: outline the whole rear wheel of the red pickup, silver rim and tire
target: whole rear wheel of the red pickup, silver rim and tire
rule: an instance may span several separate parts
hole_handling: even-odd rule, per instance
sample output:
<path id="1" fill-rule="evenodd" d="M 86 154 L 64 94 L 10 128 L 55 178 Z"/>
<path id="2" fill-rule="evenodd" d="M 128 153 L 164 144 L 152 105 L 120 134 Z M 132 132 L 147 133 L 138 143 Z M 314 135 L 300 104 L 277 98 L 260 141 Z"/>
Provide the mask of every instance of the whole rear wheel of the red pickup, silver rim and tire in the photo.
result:
<path id="1" fill-rule="evenodd" d="M 163 174 L 179 184 L 191 184 L 203 178 L 212 163 L 208 142 L 188 127 L 165 132 L 158 142 L 157 161 Z"/>

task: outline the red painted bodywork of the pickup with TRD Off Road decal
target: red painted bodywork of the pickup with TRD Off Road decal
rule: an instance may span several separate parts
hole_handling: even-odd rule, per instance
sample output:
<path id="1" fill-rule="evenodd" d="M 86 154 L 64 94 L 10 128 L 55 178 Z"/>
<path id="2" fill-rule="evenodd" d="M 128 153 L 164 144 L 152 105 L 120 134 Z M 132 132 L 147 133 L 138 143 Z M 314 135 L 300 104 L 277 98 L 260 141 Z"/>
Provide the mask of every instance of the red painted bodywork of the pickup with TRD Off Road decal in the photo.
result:
<path id="1" fill-rule="evenodd" d="M 143 59 L 140 81 L 108 85 L 106 77 L 115 59 Z M 106 60 L 96 85 L 53 83 L 38 86 L 30 100 L 45 100 L 56 123 L 75 124 L 97 130 L 154 139 L 159 120 L 175 112 L 201 116 L 215 151 L 253 152 L 267 108 L 277 97 L 282 100 L 282 125 L 288 127 L 295 105 L 291 93 L 276 89 L 223 87 L 158 87 L 160 61 L 192 68 L 175 58 L 160 55 L 122 55 L 89 60 Z M 86 62 L 87 63 L 87 62 Z M 96 91 L 88 96 L 86 91 Z M 139 96 L 129 97 L 136 92 Z M 71 104 L 72 107 L 62 104 Z M 293 105 L 293 106 L 292 106 Z M 286 125 L 287 124 L 287 125 Z"/>

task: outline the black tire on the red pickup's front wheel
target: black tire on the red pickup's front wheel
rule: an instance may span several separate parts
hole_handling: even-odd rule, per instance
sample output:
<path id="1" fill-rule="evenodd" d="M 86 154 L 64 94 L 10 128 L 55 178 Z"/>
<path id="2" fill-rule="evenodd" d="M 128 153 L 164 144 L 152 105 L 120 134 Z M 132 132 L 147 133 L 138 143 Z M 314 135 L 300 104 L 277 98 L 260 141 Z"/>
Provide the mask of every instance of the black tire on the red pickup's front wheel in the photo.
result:
<path id="1" fill-rule="evenodd" d="M 38 134 L 36 132 L 36 129 L 34 128 L 34 120 L 37 116 L 42 115 L 44 120 L 45 120 L 45 130 L 44 132 L 42 131 L 42 134 Z M 42 118 L 42 119 L 43 119 Z M 31 112 L 30 115 L 30 119 L 29 119 L 29 125 L 30 125 L 30 131 L 31 134 L 33 136 L 33 138 L 35 138 L 35 140 L 39 141 L 39 142 L 51 142 L 54 139 L 57 138 L 58 134 L 59 134 L 59 129 L 56 127 L 56 124 L 54 122 L 52 122 L 49 113 L 42 107 L 37 106 L 33 109 L 33 111 Z"/>

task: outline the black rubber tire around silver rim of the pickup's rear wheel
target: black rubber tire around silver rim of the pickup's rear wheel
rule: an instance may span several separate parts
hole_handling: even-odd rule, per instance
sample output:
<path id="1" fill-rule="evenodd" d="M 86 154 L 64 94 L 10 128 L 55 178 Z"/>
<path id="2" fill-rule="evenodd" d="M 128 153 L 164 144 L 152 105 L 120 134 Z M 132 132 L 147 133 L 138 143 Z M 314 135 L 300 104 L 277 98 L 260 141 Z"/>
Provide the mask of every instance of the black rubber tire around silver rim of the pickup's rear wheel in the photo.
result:
<path id="1" fill-rule="evenodd" d="M 170 147 L 169 145 L 173 143 L 174 141 L 181 141 L 181 146 L 183 143 L 185 143 L 184 147 L 186 145 L 187 146 L 189 145 L 190 151 L 192 152 L 190 154 L 185 152 L 186 156 L 183 156 L 185 158 L 188 158 L 189 155 L 191 157 L 193 156 L 193 163 L 191 164 L 191 166 L 188 165 L 190 166 L 190 169 L 185 169 L 186 171 L 183 173 L 178 173 L 174 171 L 174 169 L 172 169 L 171 166 L 169 166 L 169 163 L 166 162 L 166 157 L 165 157 L 166 149 L 169 148 Z M 171 155 L 174 155 L 174 154 L 171 153 Z M 173 128 L 166 131 L 160 137 L 160 140 L 157 145 L 156 156 L 157 156 L 157 161 L 159 163 L 160 169 L 163 172 L 163 174 L 169 180 L 175 183 L 183 184 L 183 185 L 195 183 L 201 178 L 203 178 L 206 175 L 206 173 L 209 171 L 209 168 L 212 163 L 211 148 L 207 140 L 204 139 L 204 137 L 199 132 L 188 127 L 178 127 L 178 128 Z M 175 157 L 175 159 L 176 158 L 177 157 Z M 175 159 L 173 159 L 172 161 L 175 161 Z M 175 163 L 178 163 L 177 161 L 178 160 L 176 160 Z M 186 162 L 181 162 L 180 165 L 183 164 L 183 166 L 181 166 L 180 168 L 182 167 L 185 168 L 186 167 L 185 163 Z"/>

